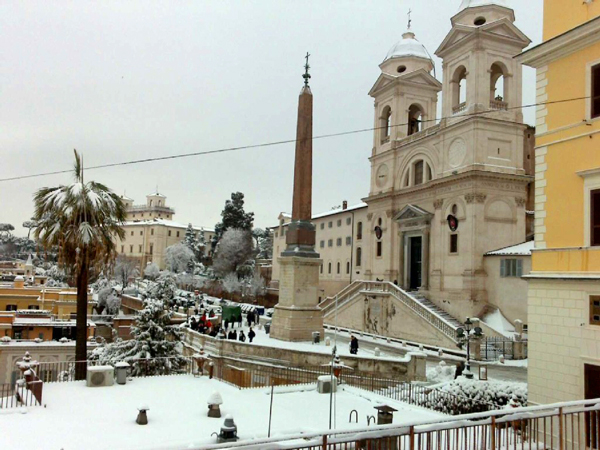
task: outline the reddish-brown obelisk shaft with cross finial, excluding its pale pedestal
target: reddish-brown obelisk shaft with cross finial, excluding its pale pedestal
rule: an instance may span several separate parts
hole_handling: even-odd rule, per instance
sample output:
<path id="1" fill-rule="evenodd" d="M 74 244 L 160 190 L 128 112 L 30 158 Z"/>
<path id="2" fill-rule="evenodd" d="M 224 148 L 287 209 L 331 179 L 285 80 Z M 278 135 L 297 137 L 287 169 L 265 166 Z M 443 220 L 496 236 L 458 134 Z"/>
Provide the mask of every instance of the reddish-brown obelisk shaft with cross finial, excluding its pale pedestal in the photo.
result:
<path id="1" fill-rule="evenodd" d="M 312 219 L 312 123 L 313 96 L 308 85 L 311 75 L 306 53 L 304 86 L 298 100 L 298 125 L 296 129 L 296 160 L 294 165 L 294 198 L 292 223 L 289 226 L 282 256 L 318 258 L 315 251 L 315 227 Z"/>

